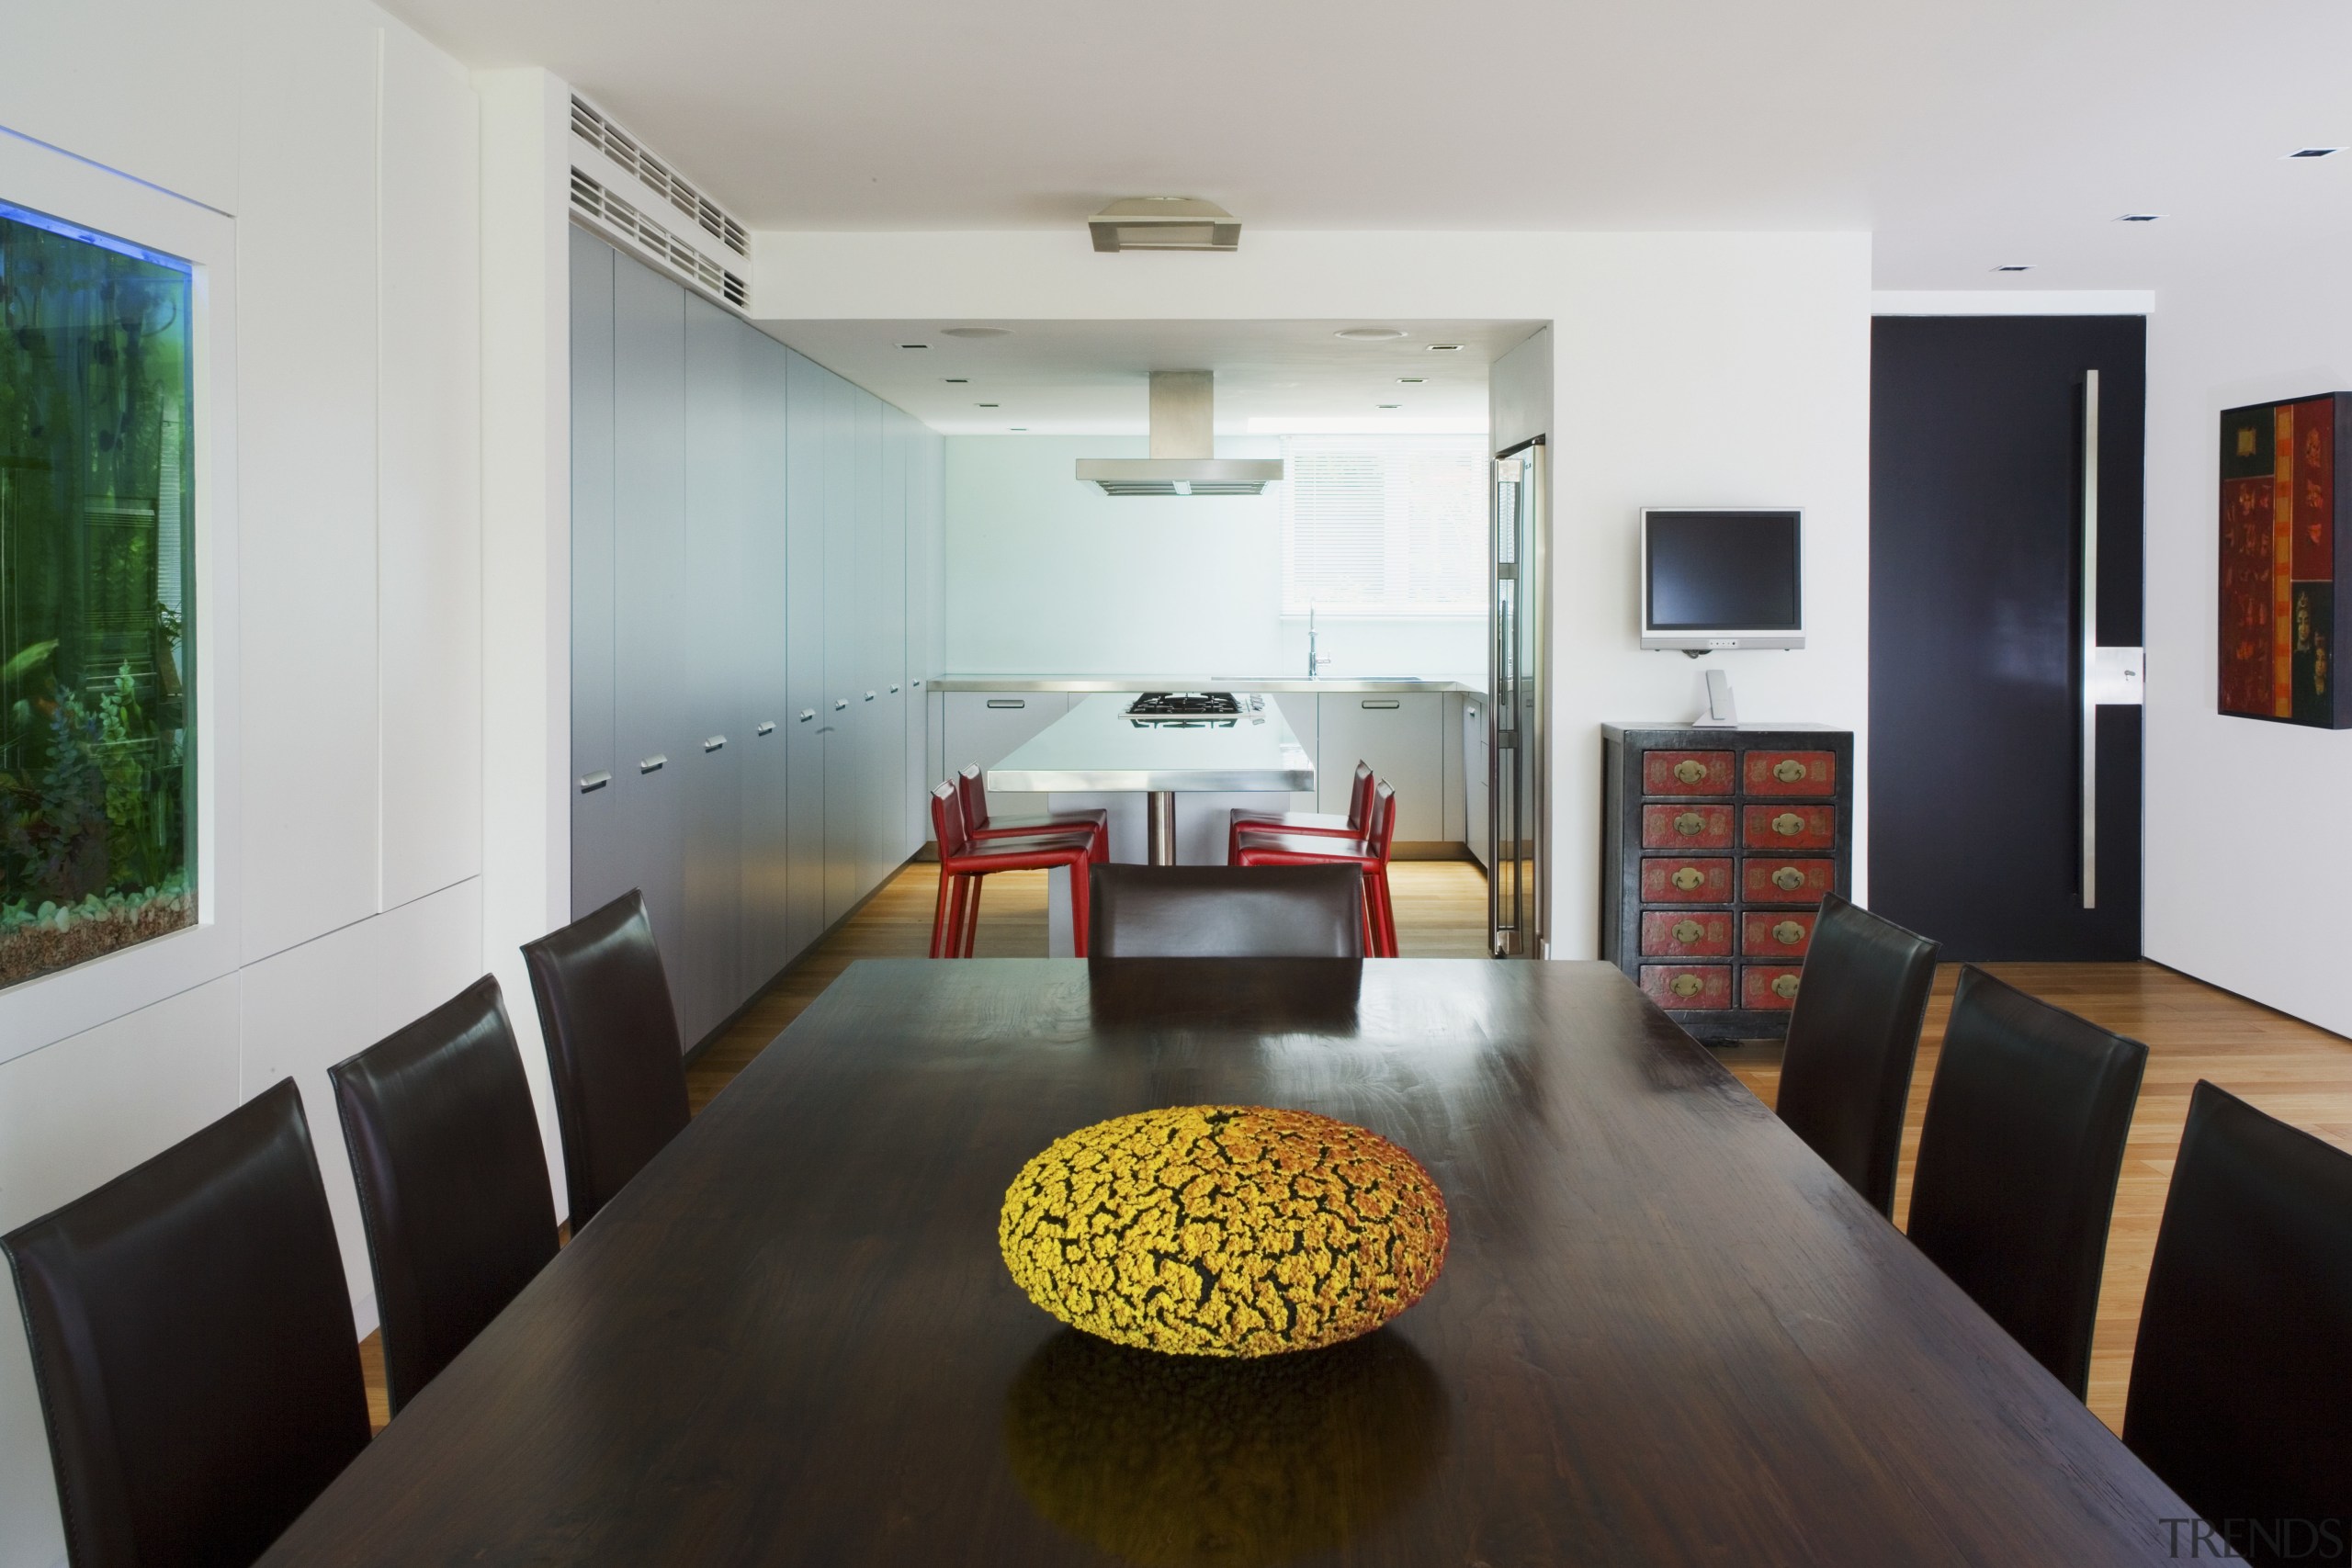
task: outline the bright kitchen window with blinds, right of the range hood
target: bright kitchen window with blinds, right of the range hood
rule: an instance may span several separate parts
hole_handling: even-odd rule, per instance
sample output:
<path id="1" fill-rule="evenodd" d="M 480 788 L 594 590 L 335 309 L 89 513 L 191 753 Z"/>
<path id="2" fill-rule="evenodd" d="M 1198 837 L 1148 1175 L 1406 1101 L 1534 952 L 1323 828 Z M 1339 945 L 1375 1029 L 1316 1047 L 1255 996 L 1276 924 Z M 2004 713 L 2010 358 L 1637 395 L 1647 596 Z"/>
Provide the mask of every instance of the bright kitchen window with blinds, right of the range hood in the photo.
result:
<path id="1" fill-rule="evenodd" d="M 1282 442 L 1282 614 L 1486 614 L 1486 437 Z"/>

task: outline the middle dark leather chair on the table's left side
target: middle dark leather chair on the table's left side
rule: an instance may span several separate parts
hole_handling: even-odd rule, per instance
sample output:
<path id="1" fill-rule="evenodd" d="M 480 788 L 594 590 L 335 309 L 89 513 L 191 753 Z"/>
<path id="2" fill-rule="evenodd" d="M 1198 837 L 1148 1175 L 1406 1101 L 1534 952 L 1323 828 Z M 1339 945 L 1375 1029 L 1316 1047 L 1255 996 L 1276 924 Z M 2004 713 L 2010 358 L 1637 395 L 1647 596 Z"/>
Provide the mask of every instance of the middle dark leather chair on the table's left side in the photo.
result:
<path id="1" fill-rule="evenodd" d="M 555 1255 L 548 1157 L 489 976 L 327 1077 L 397 1415 Z"/>

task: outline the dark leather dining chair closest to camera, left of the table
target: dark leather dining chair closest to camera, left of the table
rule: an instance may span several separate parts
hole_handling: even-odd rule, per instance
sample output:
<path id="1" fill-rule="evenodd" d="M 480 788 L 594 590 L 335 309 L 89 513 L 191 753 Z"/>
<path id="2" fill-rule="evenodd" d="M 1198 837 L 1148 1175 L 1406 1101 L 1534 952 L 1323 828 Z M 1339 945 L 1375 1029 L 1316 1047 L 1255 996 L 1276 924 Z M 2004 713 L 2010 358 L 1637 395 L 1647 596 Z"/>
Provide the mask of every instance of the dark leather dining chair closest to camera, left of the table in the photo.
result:
<path id="1" fill-rule="evenodd" d="M 294 1079 L 0 1237 L 73 1568 L 249 1563 L 367 1448 Z"/>

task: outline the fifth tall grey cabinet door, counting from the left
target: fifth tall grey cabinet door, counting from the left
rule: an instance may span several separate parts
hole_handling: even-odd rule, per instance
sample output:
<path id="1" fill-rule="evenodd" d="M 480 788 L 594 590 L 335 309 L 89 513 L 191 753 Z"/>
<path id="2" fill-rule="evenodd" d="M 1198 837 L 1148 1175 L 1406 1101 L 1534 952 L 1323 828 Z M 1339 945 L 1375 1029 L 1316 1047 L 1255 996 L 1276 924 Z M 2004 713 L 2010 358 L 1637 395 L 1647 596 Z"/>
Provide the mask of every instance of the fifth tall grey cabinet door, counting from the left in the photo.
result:
<path id="1" fill-rule="evenodd" d="M 833 686 L 826 682 L 826 421 L 833 414 L 830 376 L 786 350 L 788 501 L 786 501 L 786 616 L 790 698 L 790 950 L 804 952 L 826 929 L 826 750 Z"/>

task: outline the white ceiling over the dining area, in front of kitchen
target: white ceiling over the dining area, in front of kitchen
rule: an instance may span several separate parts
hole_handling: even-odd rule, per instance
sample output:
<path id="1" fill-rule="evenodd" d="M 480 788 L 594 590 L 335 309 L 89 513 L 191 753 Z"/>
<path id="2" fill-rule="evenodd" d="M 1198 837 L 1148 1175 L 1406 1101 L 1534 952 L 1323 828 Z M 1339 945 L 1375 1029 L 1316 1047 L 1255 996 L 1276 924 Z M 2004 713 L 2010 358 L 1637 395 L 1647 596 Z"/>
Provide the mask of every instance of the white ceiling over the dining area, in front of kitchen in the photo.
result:
<path id="1" fill-rule="evenodd" d="M 1884 289 L 2140 289 L 2352 200 L 2352 153 L 2279 158 L 2352 143 L 2340 0 L 388 5 L 572 80 L 753 228 L 1082 244 L 1162 193 L 1258 228 L 1872 228 Z"/>

